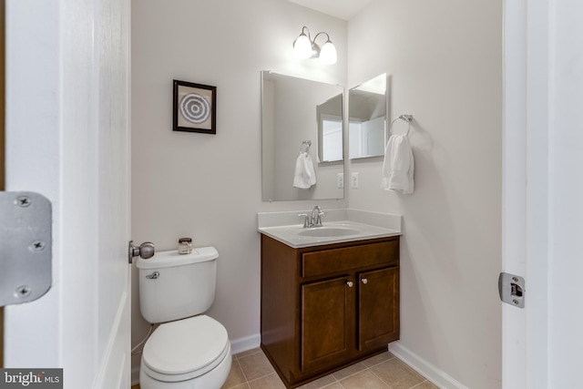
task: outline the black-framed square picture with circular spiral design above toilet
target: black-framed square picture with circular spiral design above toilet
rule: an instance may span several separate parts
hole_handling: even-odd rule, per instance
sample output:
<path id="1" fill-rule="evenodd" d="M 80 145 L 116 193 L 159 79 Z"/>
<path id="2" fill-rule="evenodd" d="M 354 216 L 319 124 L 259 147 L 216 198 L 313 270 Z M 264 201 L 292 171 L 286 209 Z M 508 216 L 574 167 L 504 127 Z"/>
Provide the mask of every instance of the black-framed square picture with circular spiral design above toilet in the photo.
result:
<path id="1" fill-rule="evenodd" d="M 217 133 L 217 87 L 174 80 L 174 131 Z"/>

